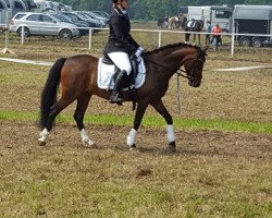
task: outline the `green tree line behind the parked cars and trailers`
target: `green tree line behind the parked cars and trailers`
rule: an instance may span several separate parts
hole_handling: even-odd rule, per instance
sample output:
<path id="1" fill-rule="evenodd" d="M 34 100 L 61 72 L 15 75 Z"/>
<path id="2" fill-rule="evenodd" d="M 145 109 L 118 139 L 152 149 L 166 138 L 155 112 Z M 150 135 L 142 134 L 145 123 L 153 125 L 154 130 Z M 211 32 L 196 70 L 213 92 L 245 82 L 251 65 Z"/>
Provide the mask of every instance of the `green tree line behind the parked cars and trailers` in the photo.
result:
<path id="1" fill-rule="evenodd" d="M 111 13 L 111 0 L 54 0 L 71 5 L 73 10 L 107 11 Z M 180 7 L 235 4 L 272 5 L 271 0 L 128 0 L 128 14 L 133 20 L 157 21 L 161 16 L 177 15 Z"/>

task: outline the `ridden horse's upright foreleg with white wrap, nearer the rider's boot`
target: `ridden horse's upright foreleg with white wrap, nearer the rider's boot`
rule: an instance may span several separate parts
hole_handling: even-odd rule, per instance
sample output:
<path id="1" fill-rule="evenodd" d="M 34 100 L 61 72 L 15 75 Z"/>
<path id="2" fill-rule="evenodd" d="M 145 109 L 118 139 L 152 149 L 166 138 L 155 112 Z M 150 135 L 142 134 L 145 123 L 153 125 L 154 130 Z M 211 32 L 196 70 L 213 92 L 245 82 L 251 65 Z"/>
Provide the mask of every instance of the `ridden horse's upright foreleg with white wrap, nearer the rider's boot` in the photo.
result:
<path id="1" fill-rule="evenodd" d="M 129 133 L 128 133 L 128 135 L 126 137 L 126 144 L 131 148 L 136 147 L 137 131 L 139 129 L 139 125 L 140 125 L 140 122 L 141 122 L 143 117 L 145 114 L 145 111 L 147 109 L 147 106 L 148 106 L 148 100 L 141 100 L 141 101 L 138 102 L 136 113 L 135 113 L 135 118 L 134 118 L 133 128 L 132 128 L 132 130 L 129 131 Z"/>

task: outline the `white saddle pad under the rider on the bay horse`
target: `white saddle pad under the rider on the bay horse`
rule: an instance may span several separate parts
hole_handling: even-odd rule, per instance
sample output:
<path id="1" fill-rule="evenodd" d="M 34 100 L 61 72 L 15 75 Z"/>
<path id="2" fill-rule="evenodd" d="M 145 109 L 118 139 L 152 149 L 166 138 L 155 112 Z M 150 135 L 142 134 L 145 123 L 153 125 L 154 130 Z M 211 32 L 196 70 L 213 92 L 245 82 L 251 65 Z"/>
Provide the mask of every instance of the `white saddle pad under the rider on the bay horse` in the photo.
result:
<path id="1" fill-rule="evenodd" d="M 115 65 L 109 65 L 102 62 L 102 58 L 99 59 L 98 62 L 98 76 L 97 76 L 97 85 L 101 89 L 112 89 L 114 86 L 114 82 L 112 80 L 112 76 L 114 74 Z M 139 88 L 144 85 L 146 81 L 146 66 L 144 63 L 143 58 L 139 61 L 138 64 L 138 74 L 135 80 L 135 88 Z M 110 85 L 111 82 L 111 85 Z M 110 85 L 110 86 L 109 86 Z"/>

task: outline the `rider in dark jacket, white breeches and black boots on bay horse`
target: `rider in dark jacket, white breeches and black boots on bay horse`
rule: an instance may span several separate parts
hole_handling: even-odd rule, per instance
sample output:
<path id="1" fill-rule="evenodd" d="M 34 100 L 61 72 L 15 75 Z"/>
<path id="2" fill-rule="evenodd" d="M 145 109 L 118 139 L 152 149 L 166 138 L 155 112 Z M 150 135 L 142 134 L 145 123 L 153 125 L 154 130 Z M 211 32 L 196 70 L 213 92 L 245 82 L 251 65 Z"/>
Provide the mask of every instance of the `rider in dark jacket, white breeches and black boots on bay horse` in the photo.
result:
<path id="1" fill-rule="evenodd" d="M 126 13 L 127 0 L 112 0 L 113 13 L 109 21 L 110 35 L 104 52 L 120 69 L 115 80 L 110 102 L 122 105 L 121 89 L 124 87 L 132 72 L 129 56 L 140 57 L 143 48 L 131 36 L 131 22 Z"/>

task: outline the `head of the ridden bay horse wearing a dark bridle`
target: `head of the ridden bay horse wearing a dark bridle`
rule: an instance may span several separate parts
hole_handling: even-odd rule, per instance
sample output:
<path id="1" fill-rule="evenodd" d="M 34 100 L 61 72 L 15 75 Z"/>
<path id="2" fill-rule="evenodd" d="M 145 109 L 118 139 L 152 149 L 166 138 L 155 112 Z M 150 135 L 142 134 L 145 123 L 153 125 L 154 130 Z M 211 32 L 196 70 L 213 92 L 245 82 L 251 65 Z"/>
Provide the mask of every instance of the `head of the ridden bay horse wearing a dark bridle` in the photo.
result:
<path id="1" fill-rule="evenodd" d="M 206 61 L 206 51 L 208 47 L 201 49 L 196 47 L 196 52 L 193 59 L 188 59 L 184 62 L 184 68 L 186 72 L 186 77 L 188 78 L 188 84 L 193 87 L 199 87 L 202 78 L 203 63 Z"/>

